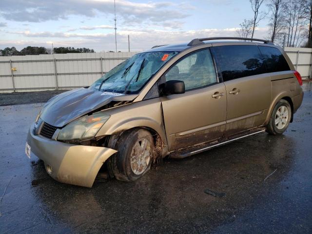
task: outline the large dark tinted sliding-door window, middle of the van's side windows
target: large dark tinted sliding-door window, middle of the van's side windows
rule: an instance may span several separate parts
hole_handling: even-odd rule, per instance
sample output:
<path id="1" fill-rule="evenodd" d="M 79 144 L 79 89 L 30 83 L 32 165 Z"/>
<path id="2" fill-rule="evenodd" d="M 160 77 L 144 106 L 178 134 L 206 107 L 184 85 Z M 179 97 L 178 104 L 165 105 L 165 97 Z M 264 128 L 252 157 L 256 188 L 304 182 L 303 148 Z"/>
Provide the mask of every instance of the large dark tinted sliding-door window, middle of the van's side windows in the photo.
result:
<path id="1" fill-rule="evenodd" d="M 223 81 L 267 73 L 255 45 L 215 46 L 211 51 Z"/>

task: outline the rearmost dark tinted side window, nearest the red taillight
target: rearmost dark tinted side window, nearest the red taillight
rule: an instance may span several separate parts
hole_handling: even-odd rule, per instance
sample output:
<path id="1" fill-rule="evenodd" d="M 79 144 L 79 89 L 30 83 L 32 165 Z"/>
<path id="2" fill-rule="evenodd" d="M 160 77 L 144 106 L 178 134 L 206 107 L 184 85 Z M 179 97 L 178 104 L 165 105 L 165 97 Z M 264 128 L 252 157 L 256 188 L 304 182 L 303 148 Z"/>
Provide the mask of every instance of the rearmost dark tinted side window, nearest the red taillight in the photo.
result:
<path id="1" fill-rule="evenodd" d="M 289 71 L 289 65 L 282 53 L 274 47 L 259 46 L 268 72 Z"/>

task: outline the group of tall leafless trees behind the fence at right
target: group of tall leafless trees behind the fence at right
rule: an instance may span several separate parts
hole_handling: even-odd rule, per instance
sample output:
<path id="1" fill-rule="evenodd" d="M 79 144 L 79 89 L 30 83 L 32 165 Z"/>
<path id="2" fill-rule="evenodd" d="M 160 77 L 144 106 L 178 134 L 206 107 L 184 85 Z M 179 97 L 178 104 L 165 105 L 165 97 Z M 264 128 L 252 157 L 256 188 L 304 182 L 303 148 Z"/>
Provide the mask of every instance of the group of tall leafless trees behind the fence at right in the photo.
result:
<path id="1" fill-rule="evenodd" d="M 312 0 L 268 0 L 267 11 L 261 11 L 264 0 L 249 0 L 252 19 L 245 19 L 237 30 L 239 37 L 254 38 L 254 30 L 265 18 L 269 20 L 269 39 L 290 47 L 312 48 Z"/>

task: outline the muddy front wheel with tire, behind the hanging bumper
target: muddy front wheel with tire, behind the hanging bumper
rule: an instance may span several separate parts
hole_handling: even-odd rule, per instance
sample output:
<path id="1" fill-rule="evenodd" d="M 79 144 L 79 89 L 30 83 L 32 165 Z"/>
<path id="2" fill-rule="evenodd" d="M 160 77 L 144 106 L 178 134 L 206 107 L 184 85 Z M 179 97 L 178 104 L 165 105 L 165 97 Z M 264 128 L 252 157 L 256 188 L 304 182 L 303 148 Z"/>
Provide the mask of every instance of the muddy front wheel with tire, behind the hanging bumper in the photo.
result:
<path id="1" fill-rule="evenodd" d="M 119 137 L 115 148 L 117 154 L 108 161 L 108 170 L 112 177 L 122 181 L 134 181 L 150 169 L 155 147 L 149 131 L 127 131 Z"/>

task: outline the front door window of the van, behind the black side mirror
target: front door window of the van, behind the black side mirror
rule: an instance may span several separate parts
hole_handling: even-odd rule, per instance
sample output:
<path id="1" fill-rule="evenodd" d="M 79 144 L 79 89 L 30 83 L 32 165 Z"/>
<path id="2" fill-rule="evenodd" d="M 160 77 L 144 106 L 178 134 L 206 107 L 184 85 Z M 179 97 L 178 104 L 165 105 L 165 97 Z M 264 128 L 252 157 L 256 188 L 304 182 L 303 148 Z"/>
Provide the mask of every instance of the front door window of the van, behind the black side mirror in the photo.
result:
<path id="1" fill-rule="evenodd" d="M 185 90 L 217 82 L 214 62 L 208 49 L 195 52 L 180 60 L 165 75 L 168 80 L 182 80 Z"/>

